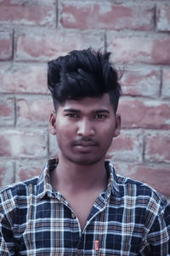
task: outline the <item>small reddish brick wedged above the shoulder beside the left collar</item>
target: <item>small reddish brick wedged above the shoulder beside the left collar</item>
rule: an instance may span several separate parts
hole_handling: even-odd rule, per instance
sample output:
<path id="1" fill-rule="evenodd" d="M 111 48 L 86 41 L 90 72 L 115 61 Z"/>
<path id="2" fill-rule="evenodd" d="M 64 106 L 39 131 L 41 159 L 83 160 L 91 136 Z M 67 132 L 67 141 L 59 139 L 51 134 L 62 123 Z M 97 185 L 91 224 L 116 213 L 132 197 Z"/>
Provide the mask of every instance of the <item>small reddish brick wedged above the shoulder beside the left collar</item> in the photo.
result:
<path id="1" fill-rule="evenodd" d="M 45 164 L 45 160 L 21 160 L 20 162 L 17 162 L 15 182 L 24 181 L 40 175 Z"/>

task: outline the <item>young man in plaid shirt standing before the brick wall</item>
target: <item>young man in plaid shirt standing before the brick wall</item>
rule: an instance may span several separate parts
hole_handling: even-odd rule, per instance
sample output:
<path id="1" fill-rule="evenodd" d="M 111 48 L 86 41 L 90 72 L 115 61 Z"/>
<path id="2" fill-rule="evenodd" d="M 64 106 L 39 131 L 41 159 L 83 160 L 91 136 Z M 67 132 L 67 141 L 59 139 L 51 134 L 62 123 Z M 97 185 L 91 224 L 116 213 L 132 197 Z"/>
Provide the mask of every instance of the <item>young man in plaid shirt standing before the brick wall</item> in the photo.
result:
<path id="1" fill-rule="evenodd" d="M 121 126 L 109 56 L 75 50 L 48 62 L 59 157 L 2 189 L 1 255 L 170 255 L 167 199 L 105 160 Z"/>

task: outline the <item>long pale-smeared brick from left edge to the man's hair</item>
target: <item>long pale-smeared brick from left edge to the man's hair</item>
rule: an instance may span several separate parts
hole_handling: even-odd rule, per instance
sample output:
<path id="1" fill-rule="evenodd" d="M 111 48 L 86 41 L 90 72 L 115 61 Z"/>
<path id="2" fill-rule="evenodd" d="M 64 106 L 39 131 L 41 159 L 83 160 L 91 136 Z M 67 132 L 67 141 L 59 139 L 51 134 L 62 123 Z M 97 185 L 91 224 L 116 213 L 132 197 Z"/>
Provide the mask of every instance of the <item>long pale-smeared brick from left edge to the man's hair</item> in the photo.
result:
<path id="1" fill-rule="evenodd" d="M 47 94 L 47 66 L 44 64 L 0 64 L 0 91 Z"/>

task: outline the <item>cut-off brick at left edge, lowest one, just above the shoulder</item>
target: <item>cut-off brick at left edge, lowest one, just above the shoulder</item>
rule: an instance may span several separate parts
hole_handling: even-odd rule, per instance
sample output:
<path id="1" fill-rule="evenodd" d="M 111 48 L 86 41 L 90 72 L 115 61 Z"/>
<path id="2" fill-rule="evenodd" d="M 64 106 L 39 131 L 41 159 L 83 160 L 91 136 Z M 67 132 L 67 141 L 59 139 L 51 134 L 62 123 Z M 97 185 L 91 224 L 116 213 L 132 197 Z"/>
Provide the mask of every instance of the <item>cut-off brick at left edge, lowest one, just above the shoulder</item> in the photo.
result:
<path id="1" fill-rule="evenodd" d="M 10 161 L 0 162 L 0 187 L 14 183 L 14 166 Z"/>

